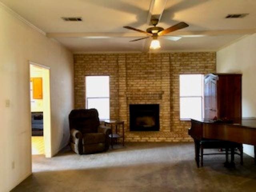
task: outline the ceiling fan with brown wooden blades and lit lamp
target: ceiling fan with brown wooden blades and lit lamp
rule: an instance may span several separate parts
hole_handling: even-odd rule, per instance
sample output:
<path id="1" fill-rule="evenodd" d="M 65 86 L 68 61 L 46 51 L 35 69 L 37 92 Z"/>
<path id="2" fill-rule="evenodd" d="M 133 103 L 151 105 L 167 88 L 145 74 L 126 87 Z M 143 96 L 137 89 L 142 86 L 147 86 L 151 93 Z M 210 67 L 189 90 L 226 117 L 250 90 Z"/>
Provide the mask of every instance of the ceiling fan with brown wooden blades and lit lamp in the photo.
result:
<path id="1" fill-rule="evenodd" d="M 152 37 L 153 40 L 151 41 L 150 48 L 158 49 L 158 48 L 160 48 L 160 42 L 157 40 L 158 36 L 162 36 L 162 35 L 165 35 L 167 33 L 170 33 L 170 32 L 188 27 L 188 24 L 186 24 L 185 22 L 180 22 L 180 23 L 178 23 L 174 26 L 171 26 L 169 28 L 164 29 L 162 27 L 157 27 L 156 26 L 158 24 L 158 19 L 152 19 L 151 23 L 154 27 L 147 28 L 146 31 L 136 29 L 136 28 L 133 28 L 133 27 L 130 27 L 130 26 L 124 26 L 124 28 L 126 28 L 126 29 L 134 30 L 134 31 L 141 32 L 141 33 L 144 33 L 144 34 L 148 35 L 147 37 L 134 39 L 134 40 L 131 40 L 130 42 L 134 42 L 134 41 L 138 41 L 138 40 L 142 40 L 142 39 Z"/>

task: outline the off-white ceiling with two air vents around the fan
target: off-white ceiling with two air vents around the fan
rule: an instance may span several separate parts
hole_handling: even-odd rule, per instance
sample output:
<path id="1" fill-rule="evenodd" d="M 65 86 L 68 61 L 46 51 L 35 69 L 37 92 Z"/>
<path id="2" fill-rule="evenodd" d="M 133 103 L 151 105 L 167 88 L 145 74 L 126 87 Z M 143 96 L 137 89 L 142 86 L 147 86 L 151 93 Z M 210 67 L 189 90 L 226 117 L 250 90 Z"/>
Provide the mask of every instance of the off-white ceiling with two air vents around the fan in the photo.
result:
<path id="1" fill-rule="evenodd" d="M 124 29 L 148 28 L 152 0 L 1 0 L 20 16 L 49 33 L 73 52 L 145 51 L 148 40 L 129 42 L 144 34 Z M 249 13 L 226 19 L 227 14 Z M 61 17 L 82 17 L 83 22 L 64 22 Z M 218 50 L 256 28 L 256 0 L 167 0 L 158 26 L 178 22 L 189 27 L 169 35 L 207 34 L 170 41 L 160 38 L 160 51 Z M 244 31 L 244 30 L 250 30 Z M 225 30 L 223 32 L 223 30 Z M 63 35 L 64 33 L 64 35 Z M 72 33 L 72 34 L 70 34 Z M 82 33 L 82 34 L 77 34 Z M 91 33 L 91 34 L 88 34 Z M 213 35 L 214 34 L 214 35 Z M 63 37 L 66 36 L 66 37 Z M 88 38 L 105 36 L 108 38 Z"/>

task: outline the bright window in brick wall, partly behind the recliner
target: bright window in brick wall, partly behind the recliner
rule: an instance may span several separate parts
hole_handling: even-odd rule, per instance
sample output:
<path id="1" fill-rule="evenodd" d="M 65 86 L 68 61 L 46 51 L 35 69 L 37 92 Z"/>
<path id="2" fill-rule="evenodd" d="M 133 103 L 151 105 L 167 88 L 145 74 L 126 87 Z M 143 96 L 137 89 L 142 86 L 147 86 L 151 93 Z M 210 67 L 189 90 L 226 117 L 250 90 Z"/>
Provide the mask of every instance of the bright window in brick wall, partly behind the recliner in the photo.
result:
<path id="1" fill-rule="evenodd" d="M 110 119 L 109 76 L 86 76 L 86 108 L 98 110 L 99 118 Z"/>

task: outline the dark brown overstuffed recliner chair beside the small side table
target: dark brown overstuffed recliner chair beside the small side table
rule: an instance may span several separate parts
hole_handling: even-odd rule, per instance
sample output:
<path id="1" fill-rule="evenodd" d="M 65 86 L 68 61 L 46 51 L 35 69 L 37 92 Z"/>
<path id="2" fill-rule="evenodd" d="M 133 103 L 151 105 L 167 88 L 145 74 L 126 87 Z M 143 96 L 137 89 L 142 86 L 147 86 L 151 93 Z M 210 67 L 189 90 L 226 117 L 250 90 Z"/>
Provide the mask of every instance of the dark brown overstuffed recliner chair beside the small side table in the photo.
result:
<path id="1" fill-rule="evenodd" d="M 107 151 L 111 129 L 100 126 L 96 109 L 72 110 L 68 116 L 70 147 L 77 154 Z"/>

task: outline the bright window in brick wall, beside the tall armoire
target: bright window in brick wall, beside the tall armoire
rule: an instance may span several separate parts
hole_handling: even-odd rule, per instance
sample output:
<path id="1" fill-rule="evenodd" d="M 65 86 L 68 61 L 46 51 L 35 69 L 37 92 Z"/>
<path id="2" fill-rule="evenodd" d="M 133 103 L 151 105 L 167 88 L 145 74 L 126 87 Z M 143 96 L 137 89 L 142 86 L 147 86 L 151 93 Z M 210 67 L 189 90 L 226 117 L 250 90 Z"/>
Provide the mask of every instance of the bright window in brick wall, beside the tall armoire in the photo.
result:
<path id="1" fill-rule="evenodd" d="M 180 75 L 180 120 L 203 118 L 204 75 Z"/>

